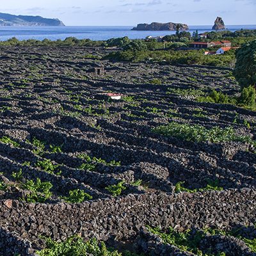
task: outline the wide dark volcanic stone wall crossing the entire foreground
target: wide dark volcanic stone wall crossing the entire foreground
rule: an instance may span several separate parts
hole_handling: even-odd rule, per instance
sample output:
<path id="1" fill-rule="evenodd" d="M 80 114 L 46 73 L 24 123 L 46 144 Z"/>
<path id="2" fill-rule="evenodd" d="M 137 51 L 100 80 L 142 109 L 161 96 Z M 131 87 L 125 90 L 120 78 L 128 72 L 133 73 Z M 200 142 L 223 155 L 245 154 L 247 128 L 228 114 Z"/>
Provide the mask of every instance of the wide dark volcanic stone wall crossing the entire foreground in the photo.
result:
<path id="1" fill-rule="evenodd" d="M 21 234 L 21 239 L 28 238 L 36 250 L 42 246 L 39 235 L 61 241 L 80 234 L 106 241 L 111 237 L 123 239 L 136 235 L 143 225 L 178 229 L 252 225 L 256 221 L 256 206 L 252 205 L 256 205 L 256 191 L 246 188 L 127 195 L 83 204 L 23 204 L 2 200 L 0 217 L 2 227 Z"/>

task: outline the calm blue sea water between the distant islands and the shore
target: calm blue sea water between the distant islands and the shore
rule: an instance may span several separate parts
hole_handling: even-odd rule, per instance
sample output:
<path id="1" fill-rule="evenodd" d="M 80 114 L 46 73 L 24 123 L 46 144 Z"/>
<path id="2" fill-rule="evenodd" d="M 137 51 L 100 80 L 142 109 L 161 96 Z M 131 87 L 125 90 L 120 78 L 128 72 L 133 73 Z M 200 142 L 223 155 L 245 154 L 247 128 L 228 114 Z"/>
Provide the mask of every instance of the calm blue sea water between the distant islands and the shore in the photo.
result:
<path id="1" fill-rule="evenodd" d="M 230 31 L 239 29 L 256 29 L 256 25 L 230 25 L 226 26 Z M 146 36 L 172 35 L 175 31 L 132 31 L 132 26 L 66 26 L 66 27 L 0 27 L 0 40 L 8 40 L 15 36 L 19 40 L 36 39 L 50 40 L 65 39 L 68 36 L 75 36 L 91 40 L 108 40 L 128 36 L 131 39 L 141 39 Z M 212 26 L 189 26 L 189 32 L 193 33 L 198 29 L 198 33 L 211 31 Z"/>

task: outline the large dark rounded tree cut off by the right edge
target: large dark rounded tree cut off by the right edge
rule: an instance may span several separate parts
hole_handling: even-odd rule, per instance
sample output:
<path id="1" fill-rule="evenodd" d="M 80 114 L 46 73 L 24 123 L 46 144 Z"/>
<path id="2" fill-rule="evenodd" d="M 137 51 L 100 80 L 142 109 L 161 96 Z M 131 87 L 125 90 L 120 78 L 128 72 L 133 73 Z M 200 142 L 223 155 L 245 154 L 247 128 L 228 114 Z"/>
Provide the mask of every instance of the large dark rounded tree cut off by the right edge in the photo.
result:
<path id="1" fill-rule="evenodd" d="M 244 44 L 236 52 L 234 76 L 241 88 L 256 86 L 256 40 Z"/>

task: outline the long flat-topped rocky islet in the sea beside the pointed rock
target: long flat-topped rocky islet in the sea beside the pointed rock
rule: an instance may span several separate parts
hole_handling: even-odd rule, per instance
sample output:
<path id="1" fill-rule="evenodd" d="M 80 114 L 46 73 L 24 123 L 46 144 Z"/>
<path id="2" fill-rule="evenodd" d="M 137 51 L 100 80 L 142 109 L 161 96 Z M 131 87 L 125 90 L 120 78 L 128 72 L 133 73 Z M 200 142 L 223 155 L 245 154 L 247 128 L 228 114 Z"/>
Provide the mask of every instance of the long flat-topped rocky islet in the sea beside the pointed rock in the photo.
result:
<path id="1" fill-rule="evenodd" d="M 138 24 L 136 28 L 132 28 L 132 30 L 138 30 L 138 31 L 161 31 L 161 30 L 168 30 L 168 31 L 173 31 L 177 29 L 177 26 L 179 25 L 180 30 L 188 30 L 188 25 L 187 24 L 182 24 L 182 23 L 173 23 L 173 22 L 168 22 L 168 23 L 158 23 L 158 22 L 153 22 L 151 24 Z"/>

